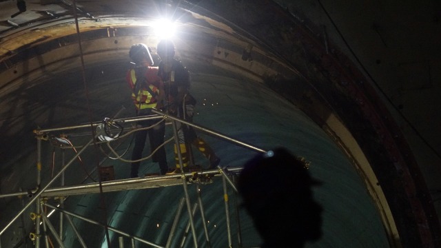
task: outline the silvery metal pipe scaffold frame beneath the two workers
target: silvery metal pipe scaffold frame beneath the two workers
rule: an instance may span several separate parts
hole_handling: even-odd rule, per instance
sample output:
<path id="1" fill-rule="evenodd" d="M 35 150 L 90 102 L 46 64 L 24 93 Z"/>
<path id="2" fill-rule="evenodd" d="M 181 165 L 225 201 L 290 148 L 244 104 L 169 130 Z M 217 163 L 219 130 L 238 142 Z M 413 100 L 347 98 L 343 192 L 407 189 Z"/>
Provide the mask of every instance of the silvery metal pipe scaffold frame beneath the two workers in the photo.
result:
<path id="1" fill-rule="evenodd" d="M 179 149 L 178 145 L 178 130 L 177 130 L 177 123 L 182 123 L 184 125 L 189 125 L 191 127 L 196 128 L 197 130 L 200 130 L 201 132 L 204 132 L 206 134 L 209 134 L 210 136 L 214 136 L 215 138 L 220 138 L 224 141 L 228 141 L 229 143 L 233 143 L 234 145 L 238 145 L 240 147 L 245 147 L 247 149 L 252 149 L 256 152 L 265 152 L 265 150 L 260 149 L 258 147 L 255 147 L 254 145 L 250 145 L 248 143 L 245 143 L 243 141 L 238 141 L 234 138 L 231 138 L 225 134 L 220 134 L 219 132 L 215 132 L 214 130 L 210 130 L 206 127 L 202 127 L 201 125 L 196 125 L 194 123 L 185 121 L 181 118 L 177 118 L 176 116 L 170 116 L 165 114 L 164 112 L 161 112 L 159 110 L 152 110 L 156 115 L 153 116 L 139 116 L 134 118 L 119 118 L 119 119 L 107 119 L 107 124 L 112 123 L 134 123 L 136 121 L 146 121 L 146 120 L 152 120 L 152 119 L 158 119 L 159 121 L 169 121 L 172 123 L 172 128 L 174 132 L 174 142 L 177 144 L 177 154 L 179 163 L 181 165 L 181 168 L 183 168 L 183 161 L 181 156 L 181 151 Z M 64 247 L 63 245 L 63 217 L 68 220 L 68 223 L 72 227 L 72 230 L 74 231 L 76 237 L 78 238 L 79 242 L 81 243 L 82 247 L 87 247 L 86 244 L 83 241 L 83 238 L 81 238 L 81 235 L 79 234 L 79 231 L 74 227 L 74 224 L 72 223 L 72 220 L 70 216 L 74 218 L 79 218 L 80 220 L 84 220 L 88 223 L 92 223 L 94 225 L 100 225 L 102 227 L 106 227 L 110 231 L 114 231 L 116 234 L 119 234 L 122 236 L 125 236 L 127 238 L 130 238 L 132 241 L 132 247 L 134 247 L 134 240 L 137 240 L 139 242 L 143 242 L 147 245 L 152 245 L 153 247 L 162 247 L 161 245 L 157 245 L 154 242 L 150 242 L 148 240 L 144 240 L 143 238 L 139 238 L 136 236 L 133 236 L 131 234 L 127 234 L 124 231 L 121 231 L 119 229 L 116 229 L 114 227 L 110 227 L 108 225 L 104 225 L 102 223 L 99 223 L 95 220 L 91 220 L 89 218 L 85 218 L 84 216 L 80 216 L 79 214 L 74 214 L 70 211 L 66 211 L 63 209 L 63 199 L 65 196 L 72 196 L 72 195 L 78 195 L 78 194 L 99 194 L 103 192 L 117 192 L 117 191 L 123 191 L 123 190 L 131 190 L 131 189 L 148 189 L 148 188 L 154 188 L 154 187 L 167 187 L 172 185 L 183 185 L 184 194 L 185 197 L 182 198 L 181 203 L 178 206 L 178 211 L 176 213 L 175 217 L 175 223 L 177 223 L 179 216 L 181 215 L 181 211 L 183 208 L 183 205 L 185 203 L 187 207 L 187 211 L 189 213 L 189 223 L 187 224 L 186 231 L 188 232 L 189 229 L 192 231 L 192 237 L 194 241 L 194 247 L 198 247 L 197 242 L 197 235 L 196 235 L 196 228 L 194 226 L 194 220 L 193 216 L 196 211 L 196 209 L 199 209 L 201 211 L 201 216 L 203 219 L 203 229 L 205 232 L 205 241 L 210 246 L 210 240 L 209 235 L 207 231 L 207 226 L 205 223 L 205 213 L 203 210 L 202 200 L 201 200 L 201 194 L 197 194 L 198 196 L 198 203 L 195 203 L 193 208 L 191 207 L 190 203 L 190 197 L 188 194 L 187 184 L 189 183 L 189 178 L 193 178 L 193 180 L 198 180 L 198 177 L 203 176 L 222 176 L 223 178 L 223 194 L 225 199 L 225 215 L 226 215 L 226 221 L 227 221 L 227 238 L 228 238 L 228 244 L 229 247 L 232 247 L 232 234 L 231 234 L 231 221 L 229 219 L 229 203 L 228 203 L 228 194 L 227 194 L 227 185 L 232 187 L 235 192 L 237 192 L 236 186 L 232 182 L 232 179 L 229 177 L 229 173 L 237 173 L 240 172 L 240 167 L 232 167 L 232 168 L 226 168 L 221 167 L 220 165 L 217 166 L 216 169 L 210 169 L 200 172 L 183 172 L 181 170 L 181 174 L 173 174 L 173 175 L 163 175 L 163 176 L 148 176 L 145 178 L 127 178 L 123 180 L 111 180 L 111 181 L 103 181 L 101 180 L 98 183 L 88 183 L 83 185 L 70 185 L 65 186 L 64 185 L 64 172 L 74 161 L 76 161 L 77 158 L 86 150 L 90 145 L 94 142 L 96 142 L 97 137 L 100 135 L 103 135 L 102 133 L 94 133 L 92 135 L 92 138 L 90 141 L 85 143 L 85 145 L 81 146 L 81 149 L 76 152 L 76 154 L 64 165 L 64 153 L 63 153 L 63 167 L 61 167 L 60 171 L 52 177 L 52 179 L 47 183 L 44 187 L 41 187 L 41 142 L 47 141 L 48 134 L 50 132 L 60 132 L 60 131 L 66 131 L 66 130 L 77 130 L 81 128 L 92 128 L 92 130 L 99 125 L 102 125 L 103 122 L 96 122 L 96 123 L 90 123 L 90 124 L 84 124 L 84 125 L 74 125 L 69 127 L 57 127 L 57 128 L 50 128 L 50 129 L 40 129 L 35 130 L 34 133 L 37 134 L 37 187 L 35 189 L 30 189 L 27 192 L 16 192 L 16 193 L 10 193 L 10 194 L 2 194 L 0 195 L 0 198 L 6 198 L 6 197 L 12 197 L 12 196 L 28 196 L 30 201 L 21 209 L 13 218 L 10 220 L 8 225 L 3 227 L 0 231 L 0 247 L 1 247 L 1 236 L 5 233 L 5 231 L 21 216 L 24 214 L 24 212 L 31 206 L 35 206 L 35 212 L 31 213 L 31 218 L 34 220 L 35 223 L 35 233 L 30 233 L 30 238 L 34 242 L 35 247 L 39 248 L 41 245 L 41 226 L 43 226 L 44 234 L 46 232 L 50 231 L 52 236 L 54 236 L 54 239 L 59 244 L 59 247 Z M 138 129 L 132 130 L 131 132 L 136 132 Z M 101 141 L 102 143 L 111 143 L 112 141 L 116 141 L 118 138 L 112 138 L 109 141 Z M 167 141 L 165 142 L 167 143 Z M 163 145 L 165 145 L 165 143 Z M 110 146 L 109 146 L 110 147 Z M 112 149 L 112 152 L 114 150 Z M 152 155 L 150 155 L 152 156 Z M 50 187 L 54 184 L 55 180 L 61 177 L 61 186 L 60 187 Z M 191 181 L 191 180 L 190 180 Z M 197 186 L 197 190 L 199 192 L 199 187 Z M 59 205 L 53 206 L 46 202 L 46 198 L 57 198 L 59 197 Z M 54 209 L 54 211 L 60 212 L 60 223 L 59 223 L 59 233 L 57 233 L 56 229 L 54 229 L 54 226 L 52 225 L 50 219 L 48 216 L 46 216 L 45 212 L 43 211 L 43 207 L 49 207 L 50 209 Z M 172 227 L 172 230 L 170 231 L 169 238 L 167 240 L 166 247 L 170 247 L 170 243 L 172 241 L 172 238 L 175 236 L 175 224 Z M 119 238 L 120 242 L 120 248 L 122 248 L 121 242 L 122 238 Z M 181 244 L 185 242 L 185 238 L 181 241 Z M 45 236 L 44 239 L 45 247 L 49 248 L 49 242 L 48 237 Z"/>

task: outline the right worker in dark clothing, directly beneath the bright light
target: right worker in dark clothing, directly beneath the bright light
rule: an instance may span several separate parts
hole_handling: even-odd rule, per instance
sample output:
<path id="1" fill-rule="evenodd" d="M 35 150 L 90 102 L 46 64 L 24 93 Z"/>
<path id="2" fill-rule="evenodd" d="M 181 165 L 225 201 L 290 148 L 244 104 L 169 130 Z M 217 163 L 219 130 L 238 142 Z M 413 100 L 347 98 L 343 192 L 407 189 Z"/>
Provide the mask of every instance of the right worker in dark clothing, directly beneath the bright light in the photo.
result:
<path id="1" fill-rule="evenodd" d="M 185 121 L 193 121 L 194 105 L 196 99 L 189 94 L 190 76 L 181 61 L 174 59 L 174 43 L 170 40 L 162 40 L 157 47 L 158 56 L 161 59 L 159 63 L 159 76 L 164 82 L 165 90 L 165 106 L 169 114 L 184 119 Z M 187 171 L 186 167 L 189 163 L 189 145 L 197 147 L 209 160 L 209 169 L 216 167 L 220 163 L 220 159 L 214 153 L 213 149 L 200 137 L 196 135 L 194 128 L 188 125 L 180 125 L 178 123 L 179 147 L 183 161 L 183 171 Z M 176 169 L 172 173 L 181 172 L 181 165 L 178 161 L 177 147 L 174 147 Z"/>

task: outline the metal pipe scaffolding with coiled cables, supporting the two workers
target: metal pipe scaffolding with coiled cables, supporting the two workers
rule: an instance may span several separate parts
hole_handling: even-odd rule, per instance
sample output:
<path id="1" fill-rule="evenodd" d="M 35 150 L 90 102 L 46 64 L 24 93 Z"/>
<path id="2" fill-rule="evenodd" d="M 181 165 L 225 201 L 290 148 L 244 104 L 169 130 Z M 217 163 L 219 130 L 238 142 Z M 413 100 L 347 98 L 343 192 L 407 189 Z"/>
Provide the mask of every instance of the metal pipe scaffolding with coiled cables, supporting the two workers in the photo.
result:
<path id="1" fill-rule="evenodd" d="M 87 223 L 91 223 L 94 225 L 101 226 L 109 231 L 113 231 L 116 234 L 119 234 L 119 247 L 123 248 L 123 237 L 130 238 L 131 240 L 131 247 L 135 247 L 135 240 L 141 243 L 144 243 L 146 245 L 150 245 L 151 247 L 163 247 L 161 245 L 156 244 L 155 242 L 145 240 L 143 238 L 134 236 L 132 234 L 128 234 L 123 230 L 116 229 L 114 227 L 110 227 L 109 225 L 105 225 L 102 223 L 97 222 L 96 220 L 92 220 L 90 218 L 85 218 L 84 216 L 81 216 L 79 214 L 75 214 L 71 211 L 67 211 L 63 208 L 63 201 L 67 196 L 74 196 L 74 195 L 81 195 L 81 194 L 100 194 L 105 192 L 119 192 L 119 191 L 125 191 L 125 190 L 132 190 L 132 189 L 150 189 L 155 187 L 169 187 L 173 185 L 182 185 L 184 196 L 181 198 L 178 208 L 176 211 L 176 216 L 174 218 L 174 223 L 172 225 L 172 228 L 170 230 L 170 234 L 167 239 L 167 244 L 165 247 L 170 247 L 172 244 L 172 241 L 176 238 L 179 238 L 176 236 L 176 225 L 178 223 L 178 220 L 181 216 L 181 212 L 183 211 L 184 206 L 187 208 L 189 221 L 187 224 L 187 227 L 185 229 L 186 233 L 189 233 L 191 231 L 192 237 L 193 237 L 193 243 L 194 247 L 199 247 L 200 244 L 198 244 L 197 235 L 196 235 L 196 227 L 194 225 L 194 214 L 196 213 L 196 210 L 199 209 L 202 223 L 203 223 L 203 232 L 205 234 L 205 242 L 207 244 L 207 247 L 211 247 L 210 245 L 210 238 L 209 233 L 207 231 L 207 225 L 205 220 L 205 214 L 204 214 L 204 207 L 201 200 L 201 194 L 199 190 L 199 184 L 201 183 L 213 183 L 214 180 L 212 180 L 213 177 L 220 176 L 222 178 L 223 183 L 223 198 L 225 202 L 225 221 L 227 226 L 227 238 L 228 238 L 228 245 L 229 247 L 233 246 L 232 241 L 232 221 L 230 220 L 229 215 L 229 203 L 228 203 L 228 190 L 227 187 L 231 187 L 234 192 L 237 192 L 236 186 L 233 183 L 232 176 L 234 174 L 240 172 L 241 167 L 222 167 L 220 165 L 217 165 L 215 169 L 209 169 L 202 171 L 200 169 L 193 169 L 190 172 L 183 172 L 181 171 L 181 174 L 172 174 L 172 175 L 153 175 L 153 176 L 146 176 L 142 178 L 127 178 L 122 180 L 106 180 L 101 181 L 97 183 L 87 183 L 82 185 L 64 185 L 64 172 L 76 159 L 79 158 L 83 152 L 85 152 L 88 147 L 91 147 L 92 143 L 96 143 L 96 141 L 99 141 L 100 143 L 107 143 L 107 147 L 112 151 L 112 153 L 117 156 L 118 158 L 122 159 L 121 156 L 119 156 L 114 149 L 110 146 L 110 143 L 113 141 L 119 140 L 119 138 L 122 138 L 123 136 L 130 135 L 132 132 L 137 132 L 139 129 L 134 128 L 130 132 L 127 132 L 126 134 L 122 133 L 122 125 L 130 124 L 130 123 L 136 123 L 137 121 L 146 121 L 146 120 L 152 120 L 152 119 L 158 119 L 159 121 L 166 121 L 167 124 L 172 125 L 173 129 L 173 137 L 170 138 L 168 141 L 165 141 L 165 143 L 168 143 L 169 141 L 174 140 L 174 143 L 176 143 L 177 154 L 178 154 L 178 160 L 181 165 L 181 168 L 183 167 L 183 161 L 181 156 L 181 150 L 179 149 L 178 145 L 178 125 L 189 125 L 191 127 L 196 128 L 196 130 L 199 130 L 201 132 L 204 132 L 205 134 L 209 134 L 210 136 L 214 136 L 215 138 L 220 138 L 224 141 L 227 141 L 229 143 L 233 143 L 234 145 L 238 145 L 240 147 L 245 147 L 247 149 L 252 149 L 256 152 L 265 152 L 265 150 L 260 149 L 258 147 L 255 147 L 254 145 L 249 145 L 248 143 L 238 141 L 234 138 L 231 138 L 229 136 L 226 136 L 224 134 L 220 134 L 219 132 L 215 132 L 213 130 L 210 130 L 206 127 L 203 127 L 201 125 L 196 125 L 194 123 L 185 121 L 181 118 L 177 118 L 176 116 L 171 116 L 168 114 L 165 114 L 164 112 L 161 112 L 159 110 L 152 110 L 154 112 L 154 115 L 151 116 L 139 116 L 134 118 L 105 118 L 103 121 L 96 122 L 96 123 L 90 123 L 85 125 L 74 125 L 69 127 L 58 127 L 58 128 L 51 128 L 51 129 L 39 129 L 35 130 L 34 133 L 37 137 L 37 178 L 36 178 L 36 187 L 34 189 L 29 189 L 27 192 L 16 192 L 11 194 L 2 194 L 0 195 L 0 198 L 6 198 L 6 197 L 12 197 L 12 196 L 28 196 L 29 202 L 10 220 L 8 225 L 6 227 L 3 227 L 0 231 L 0 248 L 1 248 L 1 236 L 5 233 L 5 231 L 21 216 L 24 215 L 25 211 L 29 209 L 32 205 L 34 206 L 34 212 L 30 214 L 30 218 L 34 221 L 34 232 L 30 233 L 29 238 L 34 243 L 34 246 L 39 248 L 41 245 L 44 245 L 44 247 L 49 248 L 50 246 L 50 240 L 48 238 L 48 231 L 50 231 L 50 234 L 54 237 L 54 239 L 57 241 L 57 244 L 59 247 L 65 247 L 63 245 L 63 220 L 68 220 L 68 224 L 74 231 L 74 234 L 76 238 L 79 240 L 82 247 L 87 247 L 85 244 L 85 241 L 83 238 L 81 238 L 81 234 L 76 229 L 74 223 L 72 222 L 72 218 L 77 218 L 79 220 L 83 220 Z M 180 124 L 178 124 L 180 123 Z M 121 132 L 119 132 L 119 127 L 121 127 Z M 64 154 L 63 154 L 63 167 L 59 170 L 59 172 L 52 177 L 52 179 L 43 187 L 41 186 L 41 169 L 42 169 L 42 163 L 41 163 L 41 143 L 42 141 L 48 141 L 50 140 L 49 134 L 51 132 L 65 132 L 67 130 L 79 130 L 82 128 L 91 128 L 92 129 L 92 138 L 90 141 L 85 143 L 85 145 L 81 146 L 81 149 L 74 154 L 72 158 L 68 161 L 68 163 L 65 163 L 64 160 Z M 114 130 L 112 130 L 112 128 Z M 70 143 L 67 139 L 65 139 L 63 136 L 56 137 L 52 136 L 52 141 L 59 143 L 61 146 L 63 145 L 69 145 L 72 147 L 72 143 Z M 163 145 L 165 145 L 163 143 Z M 153 151 L 152 154 L 156 152 Z M 147 157 L 150 158 L 152 154 Z M 127 161 L 126 161 L 127 162 Z M 61 178 L 61 185 L 59 187 L 53 187 L 54 182 Z M 187 189 L 187 185 L 189 184 L 196 184 L 197 188 L 197 203 L 194 203 L 192 206 L 191 199 L 189 197 L 189 192 Z M 54 206 L 50 203 L 48 203 L 48 198 L 54 198 L 58 199 L 59 202 L 57 206 Z M 51 220 L 48 218 L 48 214 L 45 214 L 45 211 L 43 211 L 43 208 L 49 207 L 50 209 L 53 209 L 52 211 L 58 211 L 60 214 L 59 218 L 59 230 L 52 225 Z M 236 211 L 238 209 L 236 208 Z M 239 233 L 240 233 L 240 220 L 236 220 L 236 225 L 238 225 Z M 43 231 L 41 230 L 43 228 Z M 44 234 L 44 235 L 42 235 Z M 239 236 L 239 247 L 241 247 L 240 244 L 240 234 Z M 181 240 L 181 247 L 183 247 L 183 244 L 185 242 L 184 236 Z M 52 245 L 52 244 L 51 244 Z"/>

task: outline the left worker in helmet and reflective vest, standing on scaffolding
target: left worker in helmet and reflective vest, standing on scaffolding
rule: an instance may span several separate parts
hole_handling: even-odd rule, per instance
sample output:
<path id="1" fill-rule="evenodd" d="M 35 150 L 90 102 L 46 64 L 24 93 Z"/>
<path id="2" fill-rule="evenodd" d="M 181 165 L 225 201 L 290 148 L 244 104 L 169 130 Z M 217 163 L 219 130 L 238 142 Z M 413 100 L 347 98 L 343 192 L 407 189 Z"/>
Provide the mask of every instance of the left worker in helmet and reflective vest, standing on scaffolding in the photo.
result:
<path id="1" fill-rule="evenodd" d="M 152 67 L 153 59 L 149 48 L 145 44 L 132 45 L 129 52 L 130 59 L 134 63 L 134 68 L 127 71 L 127 83 L 132 90 L 132 100 L 136 109 L 136 116 L 147 116 L 152 113 L 152 109 L 161 110 L 163 107 L 164 87 L 161 78 L 158 76 L 158 68 Z M 135 132 L 135 144 L 132 153 L 132 170 L 130 177 L 138 177 L 139 161 L 143 155 L 143 149 L 147 134 L 150 141 L 150 152 L 163 144 L 165 134 L 165 123 L 163 119 L 153 119 L 139 121 L 137 127 L 150 127 L 147 130 Z M 165 148 L 159 148 L 152 160 L 159 164 L 161 174 L 168 170 Z"/>

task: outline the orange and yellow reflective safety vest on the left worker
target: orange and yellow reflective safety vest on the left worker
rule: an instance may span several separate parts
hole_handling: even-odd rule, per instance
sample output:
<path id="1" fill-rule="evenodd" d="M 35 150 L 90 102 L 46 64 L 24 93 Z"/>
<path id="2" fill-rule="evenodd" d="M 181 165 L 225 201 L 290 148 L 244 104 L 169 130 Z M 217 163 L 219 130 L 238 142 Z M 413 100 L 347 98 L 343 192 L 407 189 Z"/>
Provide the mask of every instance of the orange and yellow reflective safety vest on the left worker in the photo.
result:
<path id="1" fill-rule="evenodd" d="M 158 101 L 155 99 L 154 96 L 157 96 L 159 94 L 159 89 L 158 87 L 156 87 L 156 85 L 150 83 L 158 83 L 161 81 L 161 79 L 157 76 L 157 72 L 157 68 L 147 68 L 147 72 L 145 73 L 144 78 L 146 82 L 144 85 L 142 85 L 141 89 L 138 92 L 134 92 L 135 86 L 136 84 L 143 82 L 137 81 L 134 69 L 131 69 L 127 72 L 127 83 L 132 89 L 132 100 L 137 109 L 144 110 L 147 108 L 153 108 L 156 107 L 156 105 L 158 104 Z M 149 90 L 147 90 L 146 88 L 147 85 L 150 88 Z M 152 93 L 154 95 L 152 95 Z"/>

